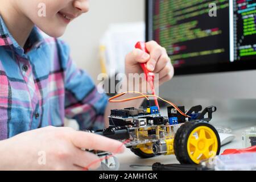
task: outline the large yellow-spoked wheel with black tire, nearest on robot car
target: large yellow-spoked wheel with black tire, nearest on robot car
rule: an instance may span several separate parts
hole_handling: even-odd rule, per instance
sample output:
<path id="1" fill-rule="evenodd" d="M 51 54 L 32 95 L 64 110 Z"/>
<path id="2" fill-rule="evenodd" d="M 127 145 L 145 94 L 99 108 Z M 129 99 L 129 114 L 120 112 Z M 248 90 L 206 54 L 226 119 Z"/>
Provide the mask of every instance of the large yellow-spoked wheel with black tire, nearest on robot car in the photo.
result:
<path id="1" fill-rule="evenodd" d="M 219 154 L 220 137 L 207 122 L 188 122 L 177 130 L 174 151 L 180 163 L 199 164 L 201 160 Z"/>

